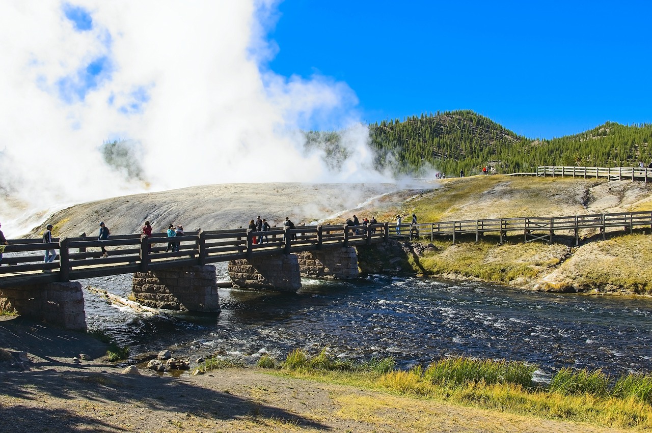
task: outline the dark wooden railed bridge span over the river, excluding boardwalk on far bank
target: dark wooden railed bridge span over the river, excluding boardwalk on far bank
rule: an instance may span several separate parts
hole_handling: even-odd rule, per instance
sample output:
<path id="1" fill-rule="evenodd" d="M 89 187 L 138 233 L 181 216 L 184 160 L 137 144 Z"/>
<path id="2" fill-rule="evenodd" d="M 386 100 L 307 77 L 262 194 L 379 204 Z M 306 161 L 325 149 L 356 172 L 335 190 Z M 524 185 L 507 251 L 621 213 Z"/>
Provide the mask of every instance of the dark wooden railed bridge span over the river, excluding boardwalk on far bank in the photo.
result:
<path id="1" fill-rule="evenodd" d="M 44 244 L 37 239 L 8 240 L 0 266 L 0 287 L 72 281 L 77 279 L 146 272 L 177 266 L 226 262 L 329 247 L 348 247 L 384 242 L 387 223 L 370 226 L 300 226 L 293 230 L 247 229 L 186 232 L 168 238 L 163 233 L 111 235 L 53 239 Z M 261 242 L 259 242 L 259 240 Z M 168 244 L 179 251 L 168 251 Z M 102 257 L 104 247 L 108 257 Z M 57 260 L 44 262 L 44 250 L 58 250 Z M 38 252 L 38 253 L 37 253 Z"/>

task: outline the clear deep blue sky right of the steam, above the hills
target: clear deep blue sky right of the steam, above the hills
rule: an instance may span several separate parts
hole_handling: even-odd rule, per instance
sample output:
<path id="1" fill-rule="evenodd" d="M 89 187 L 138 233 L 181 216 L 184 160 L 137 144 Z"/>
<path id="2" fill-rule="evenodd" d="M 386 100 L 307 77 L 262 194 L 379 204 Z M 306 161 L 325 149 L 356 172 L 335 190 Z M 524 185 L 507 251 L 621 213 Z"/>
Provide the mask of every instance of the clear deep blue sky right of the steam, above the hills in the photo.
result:
<path id="1" fill-rule="evenodd" d="M 529 138 L 652 121 L 652 2 L 286 0 L 282 76 L 346 82 L 365 122 L 471 109 Z"/>

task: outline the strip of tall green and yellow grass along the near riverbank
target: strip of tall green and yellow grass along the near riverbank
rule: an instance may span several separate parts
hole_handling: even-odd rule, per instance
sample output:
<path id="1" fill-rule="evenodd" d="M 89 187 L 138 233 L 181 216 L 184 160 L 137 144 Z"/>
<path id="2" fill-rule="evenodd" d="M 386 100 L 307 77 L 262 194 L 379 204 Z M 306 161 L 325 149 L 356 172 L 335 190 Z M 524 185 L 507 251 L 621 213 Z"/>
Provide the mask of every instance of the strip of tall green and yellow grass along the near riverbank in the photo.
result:
<path id="1" fill-rule="evenodd" d="M 225 363 L 214 365 L 228 367 Z M 355 363 L 334 359 L 326 350 L 314 357 L 294 350 L 282 362 L 263 356 L 259 367 L 271 374 L 413 398 L 415 404 L 446 402 L 595 426 L 652 428 L 652 375 L 649 374 L 610 378 L 599 370 L 562 369 L 550 384 L 542 385 L 533 382 L 537 366 L 520 362 L 451 358 L 426 368 L 397 370 L 391 358 Z M 385 403 L 378 398 L 349 397 L 346 404 L 355 407 L 359 417 L 373 417 Z M 423 419 L 411 422 L 427 425 L 427 411 L 416 416 Z"/>

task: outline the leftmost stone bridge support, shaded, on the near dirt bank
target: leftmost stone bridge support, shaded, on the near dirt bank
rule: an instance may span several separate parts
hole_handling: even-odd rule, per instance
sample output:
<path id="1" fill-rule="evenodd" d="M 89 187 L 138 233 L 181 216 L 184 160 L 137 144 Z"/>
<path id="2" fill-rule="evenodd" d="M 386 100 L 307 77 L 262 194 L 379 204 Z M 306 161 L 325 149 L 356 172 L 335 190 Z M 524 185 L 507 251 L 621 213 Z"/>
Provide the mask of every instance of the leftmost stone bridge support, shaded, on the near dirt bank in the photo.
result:
<path id="1" fill-rule="evenodd" d="M 0 310 L 64 329 L 86 330 L 82 285 L 77 281 L 0 288 Z"/>

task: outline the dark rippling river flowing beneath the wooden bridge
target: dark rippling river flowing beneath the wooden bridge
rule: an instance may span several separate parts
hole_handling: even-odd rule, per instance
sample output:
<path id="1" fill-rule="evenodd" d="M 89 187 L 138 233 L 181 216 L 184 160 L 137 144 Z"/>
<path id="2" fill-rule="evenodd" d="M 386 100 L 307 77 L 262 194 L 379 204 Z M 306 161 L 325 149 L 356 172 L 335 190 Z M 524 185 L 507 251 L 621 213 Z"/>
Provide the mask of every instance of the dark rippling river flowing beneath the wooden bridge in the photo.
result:
<path id="1" fill-rule="evenodd" d="M 226 264 L 217 269 L 227 279 Z M 131 275 L 82 281 L 128 296 Z M 255 363 L 302 348 L 347 359 L 393 356 L 401 367 L 441 356 L 528 361 L 543 377 L 571 366 L 652 372 L 652 300 L 550 294 L 482 283 L 372 275 L 303 281 L 297 293 L 220 289 L 222 313 L 143 315 L 85 292 L 87 323 L 131 354 L 174 346 Z"/>

